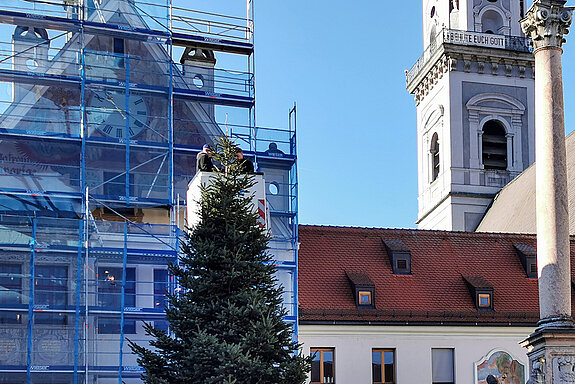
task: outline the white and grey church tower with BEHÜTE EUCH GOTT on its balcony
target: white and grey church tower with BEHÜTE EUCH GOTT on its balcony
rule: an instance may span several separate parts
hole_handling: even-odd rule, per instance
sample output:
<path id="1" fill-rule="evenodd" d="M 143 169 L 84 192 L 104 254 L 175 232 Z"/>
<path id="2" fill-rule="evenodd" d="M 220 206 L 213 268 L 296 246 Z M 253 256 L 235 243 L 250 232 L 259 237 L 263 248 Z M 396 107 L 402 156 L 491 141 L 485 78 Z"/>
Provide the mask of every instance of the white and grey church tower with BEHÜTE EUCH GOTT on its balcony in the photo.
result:
<path id="1" fill-rule="evenodd" d="M 473 231 L 497 192 L 535 161 L 534 73 L 525 0 L 422 0 L 418 221 Z"/>

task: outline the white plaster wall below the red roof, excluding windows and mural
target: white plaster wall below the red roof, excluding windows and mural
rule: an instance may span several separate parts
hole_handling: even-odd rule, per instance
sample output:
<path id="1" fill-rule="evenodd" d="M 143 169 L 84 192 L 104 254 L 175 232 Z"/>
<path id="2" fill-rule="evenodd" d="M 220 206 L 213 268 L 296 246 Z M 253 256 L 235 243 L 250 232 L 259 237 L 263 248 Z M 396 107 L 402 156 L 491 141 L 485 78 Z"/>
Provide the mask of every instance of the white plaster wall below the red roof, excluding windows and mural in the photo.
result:
<path id="1" fill-rule="evenodd" d="M 304 354 L 310 348 L 335 348 L 335 382 L 371 384 L 371 351 L 394 348 L 396 382 L 431 383 L 431 348 L 454 348 L 455 382 L 474 383 L 474 363 L 493 349 L 519 360 L 528 371 L 526 350 L 519 346 L 529 327 L 494 326 L 335 326 L 300 325 Z"/>

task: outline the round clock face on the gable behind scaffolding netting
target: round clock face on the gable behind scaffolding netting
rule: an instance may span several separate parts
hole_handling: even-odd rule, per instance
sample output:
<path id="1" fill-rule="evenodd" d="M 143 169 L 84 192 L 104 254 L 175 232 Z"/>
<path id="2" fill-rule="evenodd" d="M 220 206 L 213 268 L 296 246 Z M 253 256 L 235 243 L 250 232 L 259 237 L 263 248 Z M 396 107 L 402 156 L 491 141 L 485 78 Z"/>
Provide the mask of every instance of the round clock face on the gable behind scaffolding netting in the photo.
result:
<path id="1" fill-rule="evenodd" d="M 128 108 L 126 94 L 114 91 L 94 91 L 86 112 L 90 132 L 100 133 L 117 139 L 138 136 L 148 126 L 148 106 L 140 95 L 130 94 Z M 127 126 L 127 122 L 129 125 Z"/>

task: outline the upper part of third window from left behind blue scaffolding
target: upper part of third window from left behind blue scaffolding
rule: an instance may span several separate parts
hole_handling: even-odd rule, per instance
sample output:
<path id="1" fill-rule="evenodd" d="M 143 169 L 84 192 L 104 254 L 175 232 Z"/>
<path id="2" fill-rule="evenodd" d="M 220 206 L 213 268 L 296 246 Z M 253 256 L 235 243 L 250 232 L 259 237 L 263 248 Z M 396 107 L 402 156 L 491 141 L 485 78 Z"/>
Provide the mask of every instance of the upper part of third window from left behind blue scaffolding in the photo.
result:
<path id="1" fill-rule="evenodd" d="M 136 306 L 136 268 L 126 268 L 124 307 Z M 98 305 L 122 306 L 122 267 L 98 268 Z"/>

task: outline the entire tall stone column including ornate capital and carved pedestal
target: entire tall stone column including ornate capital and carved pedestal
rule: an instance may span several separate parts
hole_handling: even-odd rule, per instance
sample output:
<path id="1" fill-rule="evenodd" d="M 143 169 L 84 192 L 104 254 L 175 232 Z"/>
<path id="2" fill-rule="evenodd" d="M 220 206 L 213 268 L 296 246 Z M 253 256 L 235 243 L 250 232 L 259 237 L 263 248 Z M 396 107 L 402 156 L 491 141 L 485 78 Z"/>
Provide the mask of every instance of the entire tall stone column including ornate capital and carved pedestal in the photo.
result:
<path id="1" fill-rule="evenodd" d="M 574 383 L 575 326 L 571 268 L 565 121 L 561 69 L 573 10 L 565 0 L 535 0 L 521 26 L 535 54 L 537 269 L 540 321 L 523 342 L 531 382 Z"/>

